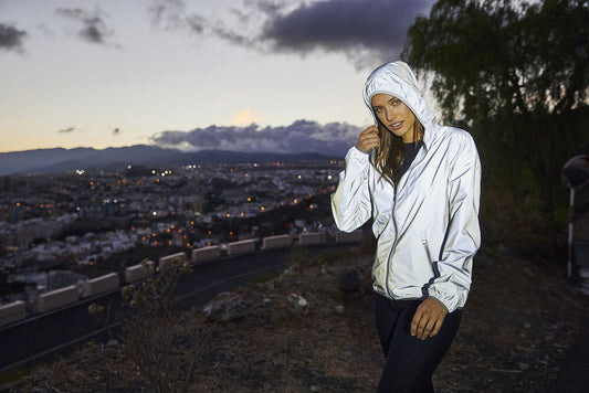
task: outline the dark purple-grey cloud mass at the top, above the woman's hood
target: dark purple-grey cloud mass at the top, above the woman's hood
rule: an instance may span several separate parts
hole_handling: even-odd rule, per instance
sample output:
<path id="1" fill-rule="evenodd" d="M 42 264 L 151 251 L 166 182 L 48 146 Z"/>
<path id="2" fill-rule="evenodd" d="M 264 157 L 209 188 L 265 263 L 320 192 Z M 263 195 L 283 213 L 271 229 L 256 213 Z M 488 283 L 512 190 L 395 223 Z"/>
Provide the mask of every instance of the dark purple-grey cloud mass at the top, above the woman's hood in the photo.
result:
<path id="1" fill-rule="evenodd" d="M 427 14 L 433 2 L 327 0 L 284 14 L 271 9 L 261 39 L 278 51 L 324 50 L 354 56 L 360 50 L 361 55 L 390 60 L 400 53 L 416 17 Z"/>

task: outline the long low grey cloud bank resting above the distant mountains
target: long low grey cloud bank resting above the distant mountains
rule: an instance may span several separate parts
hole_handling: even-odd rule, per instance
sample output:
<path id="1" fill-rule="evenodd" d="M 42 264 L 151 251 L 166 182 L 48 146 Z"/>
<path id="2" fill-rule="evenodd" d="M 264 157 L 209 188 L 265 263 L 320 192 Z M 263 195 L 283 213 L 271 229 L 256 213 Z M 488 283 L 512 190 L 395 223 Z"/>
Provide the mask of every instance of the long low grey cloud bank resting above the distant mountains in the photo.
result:
<path id="1" fill-rule="evenodd" d="M 231 151 L 299 153 L 316 152 L 344 157 L 358 139 L 360 129 L 343 123 L 319 125 L 297 120 L 290 126 L 210 126 L 191 131 L 164 131 L 150 138 L 167 148 L 188 151 L 217 149 Z"/>

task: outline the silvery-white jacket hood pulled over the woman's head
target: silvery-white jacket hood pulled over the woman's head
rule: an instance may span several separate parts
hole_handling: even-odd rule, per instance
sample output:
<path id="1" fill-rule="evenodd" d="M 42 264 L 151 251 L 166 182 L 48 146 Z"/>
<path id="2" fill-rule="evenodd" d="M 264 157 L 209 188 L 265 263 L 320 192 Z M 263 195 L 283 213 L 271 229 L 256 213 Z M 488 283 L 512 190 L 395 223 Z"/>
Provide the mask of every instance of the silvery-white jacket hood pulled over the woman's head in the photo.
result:
<path id="1" fill-rule="evenodd" d="M 376 68 L 364 85 L 364 102 L 370 110 L 372 120 L 377 117 L 370 102 L 376 94 L 388 94 L 403 102 L 428 130 L 435 124 L 435 116 L 422 97 L 416 75 L 404 62 L 387 63 Z"/>

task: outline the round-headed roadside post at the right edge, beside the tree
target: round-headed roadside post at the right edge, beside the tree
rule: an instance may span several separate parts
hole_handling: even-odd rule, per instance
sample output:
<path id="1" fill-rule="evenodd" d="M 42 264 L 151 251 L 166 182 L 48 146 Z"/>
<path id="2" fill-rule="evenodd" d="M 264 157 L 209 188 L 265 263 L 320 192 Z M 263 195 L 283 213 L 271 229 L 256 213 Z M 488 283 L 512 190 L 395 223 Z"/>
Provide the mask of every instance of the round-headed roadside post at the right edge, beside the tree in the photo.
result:
<path id="1" fill-rule="evenodd" d="M 567 275 L 572 275 L 572 224 L 575 220 L 575 190 L 589 183 L 589 156 L 576 156 L 562 168 L 562 182 L 570 189 L 568 224 L 568 263 Z"/>

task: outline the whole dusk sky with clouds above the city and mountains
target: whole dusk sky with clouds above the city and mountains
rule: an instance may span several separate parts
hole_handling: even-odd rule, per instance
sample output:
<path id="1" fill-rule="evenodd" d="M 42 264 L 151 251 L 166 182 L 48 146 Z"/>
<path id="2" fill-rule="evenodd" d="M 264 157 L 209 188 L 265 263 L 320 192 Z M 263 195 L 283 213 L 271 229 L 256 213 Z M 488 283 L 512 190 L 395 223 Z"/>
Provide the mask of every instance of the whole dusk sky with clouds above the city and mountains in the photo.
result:
<path id="1" fill-rule="evenodd" d="M 0 0 L 0 152 L 336 152 L 434 0 Z"/>

